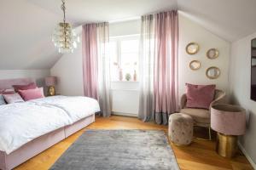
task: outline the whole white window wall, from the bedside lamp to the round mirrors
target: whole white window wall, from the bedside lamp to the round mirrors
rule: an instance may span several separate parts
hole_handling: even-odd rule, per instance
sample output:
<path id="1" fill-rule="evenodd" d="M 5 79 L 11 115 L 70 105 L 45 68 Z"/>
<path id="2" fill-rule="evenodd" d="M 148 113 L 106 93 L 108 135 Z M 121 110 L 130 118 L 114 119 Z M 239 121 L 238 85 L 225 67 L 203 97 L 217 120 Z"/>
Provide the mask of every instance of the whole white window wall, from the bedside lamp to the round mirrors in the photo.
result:
<path id="1" fill-rule="evenodd" d="M 179 17 L 180 41 L 179 41 L 179 94 L 185 92 L 185 82 L 195 84 L 217 84 L 220 89 L 228 89 L 228 68 L 230 43 L 213 35 L 193 21 Z M 111 37 L 124 36 L 140 33 L 140 20 L 130 20 L 126 22 L 112 23 L 109 26 L 109 35 Z M 189 55 L 185 52 L 185 47 L 189 42 L 198 42 L 201 49 L 198 54 Z M 81 45 L 81 44 L 80 44 Z M 206 52 L 208 48 L 218 48 L 220 55 L 218 59 L 207 59 Z M 191 71 L 189 61 L 198 59 L 201 61 L 201 69 Z M 210 80 L 206 77 L 205 71 L 209 66 L 218 66 L 221 70 L 221 76 L 216 80 Z M 51 69 L 51 75 L 59 77 L 57 91 L 66 95 L 82 95 L 83 93 L 83 75 L 82 75 L 82 50 L 78 48 L 74 54 L 65 54 Z M 138 111 L 138 83 L 113 82 L 113 111 L 115 113 L 125 112 L 137 115 Z"/>

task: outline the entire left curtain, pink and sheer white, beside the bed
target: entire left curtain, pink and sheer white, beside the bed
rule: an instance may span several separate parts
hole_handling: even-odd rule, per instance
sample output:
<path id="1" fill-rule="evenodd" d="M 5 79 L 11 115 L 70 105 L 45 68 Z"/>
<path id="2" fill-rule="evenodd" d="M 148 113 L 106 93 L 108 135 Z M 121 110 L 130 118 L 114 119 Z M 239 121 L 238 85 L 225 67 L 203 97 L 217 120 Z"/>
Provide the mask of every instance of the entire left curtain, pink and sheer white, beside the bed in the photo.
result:
<path id="1" fill-rule="evenodd" d="M 82 32 L 84 95 L 97 99 L 102 116 L 111 115 L 108 23 L 86 24 Z"/>

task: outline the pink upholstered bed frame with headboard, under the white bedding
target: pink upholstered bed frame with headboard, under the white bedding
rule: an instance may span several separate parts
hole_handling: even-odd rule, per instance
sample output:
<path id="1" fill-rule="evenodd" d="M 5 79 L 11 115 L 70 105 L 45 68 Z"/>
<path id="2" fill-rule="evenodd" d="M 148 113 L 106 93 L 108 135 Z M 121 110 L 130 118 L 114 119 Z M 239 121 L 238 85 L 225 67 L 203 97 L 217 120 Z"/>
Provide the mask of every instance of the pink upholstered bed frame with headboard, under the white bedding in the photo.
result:
<path id="1" fill-rule="evenodd" d="M 11 88 L 14 84 L 25 85 L 34 82 L 30 78 L 0 80 L 0 88 Z M 53 132 L 44 134 L 43 136 L 33 139 L 31 142 L 24 144 L 18 150 L 13 151 L 9 155 L 0 151 L 0 169 L 10 170 L 17 167 L 21 163 L 29 160 L 33 156 L 38 155 L 50 146 L 66 139 L 73 133 L 78 132 L 80 129 L 87 127 L 90 123 L 95 122 L 95 114 L 87 116 L 72 125 L 61 127 Z"/>

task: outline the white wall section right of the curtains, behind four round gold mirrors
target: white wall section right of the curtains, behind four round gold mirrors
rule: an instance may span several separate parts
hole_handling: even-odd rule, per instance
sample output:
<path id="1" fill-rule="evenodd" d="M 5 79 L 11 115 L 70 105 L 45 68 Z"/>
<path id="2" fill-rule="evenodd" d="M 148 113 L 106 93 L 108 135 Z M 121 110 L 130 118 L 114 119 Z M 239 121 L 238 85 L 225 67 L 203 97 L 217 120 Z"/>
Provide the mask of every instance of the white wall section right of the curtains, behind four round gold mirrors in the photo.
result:
<path id="1" fill-rule="evenodd" d="M 179 50 L 178 50 L 178 94 L 185 93 L 185 83 L 194 84 L 216 84 L 217 88 L 228 93 L 229 79 L 229 58 L 230 42 L 215 36 L 210 31 L 189 20 L 183 14 L 179 14 Z M 186 53 L 186 46 L 189 42 L 197 42 L 200 50 L 197 54 L 189 55 Z M 217 59 L 208 59 L 207 50 L 218 48 L 219 56 Z M 192 71 L 189 68 L 191 60 L 201 61 L 201 68 Z M 206 77 L 207 68 L 217 66 L 221 75 L 218 79 L 211 80 Z"/>

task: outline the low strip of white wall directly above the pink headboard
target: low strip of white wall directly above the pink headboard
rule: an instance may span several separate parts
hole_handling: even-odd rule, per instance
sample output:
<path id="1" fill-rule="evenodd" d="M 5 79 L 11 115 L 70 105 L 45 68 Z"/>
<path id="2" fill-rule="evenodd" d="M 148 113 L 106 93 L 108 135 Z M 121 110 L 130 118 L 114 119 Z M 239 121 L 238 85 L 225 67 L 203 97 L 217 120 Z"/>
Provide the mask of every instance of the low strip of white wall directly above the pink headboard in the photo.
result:
<path id="1" fill-rule="evenodd" d="M 42 87 L 44 77 L 49 77 L 49 70 L 0 70 L 0 79 L 32 78 Z"/>

